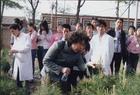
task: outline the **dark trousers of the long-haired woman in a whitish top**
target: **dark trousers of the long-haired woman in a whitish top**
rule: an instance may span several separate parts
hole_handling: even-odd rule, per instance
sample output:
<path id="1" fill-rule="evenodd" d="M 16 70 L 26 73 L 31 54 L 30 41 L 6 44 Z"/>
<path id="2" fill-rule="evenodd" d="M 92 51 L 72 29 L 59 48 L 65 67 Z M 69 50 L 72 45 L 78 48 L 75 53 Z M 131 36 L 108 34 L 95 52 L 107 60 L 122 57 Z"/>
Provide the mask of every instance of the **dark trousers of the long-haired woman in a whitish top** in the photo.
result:
<path id="1" fill-rule="evenodd" d="M 43 68 L 43 57 L 45 56 L 47 50 L 48 49 L 44 49 L 43 46 L 38 46 L 37 58 L 38 58 L 38 62 L 39 62 L 39 69 L 40 69 L 40 71 Z"/>

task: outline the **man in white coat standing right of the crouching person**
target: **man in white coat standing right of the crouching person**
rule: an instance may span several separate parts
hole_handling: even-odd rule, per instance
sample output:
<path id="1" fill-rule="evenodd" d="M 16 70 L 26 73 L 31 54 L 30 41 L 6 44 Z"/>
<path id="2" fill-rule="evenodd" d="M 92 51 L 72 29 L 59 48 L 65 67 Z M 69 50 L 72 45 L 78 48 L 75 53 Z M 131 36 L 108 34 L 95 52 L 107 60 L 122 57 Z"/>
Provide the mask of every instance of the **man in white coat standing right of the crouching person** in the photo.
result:
<path id="1" fill-rule="evenodd" d="M 106 34 L 106 27 L 104 20 L 98 20 L 98 33 L 90 41 L 91 58 L 87 65 L 93 68 L 101 65 L 103 74 L 111 75 L 110 64 L 114 54 L 114 40 L 113 37 Z"/>

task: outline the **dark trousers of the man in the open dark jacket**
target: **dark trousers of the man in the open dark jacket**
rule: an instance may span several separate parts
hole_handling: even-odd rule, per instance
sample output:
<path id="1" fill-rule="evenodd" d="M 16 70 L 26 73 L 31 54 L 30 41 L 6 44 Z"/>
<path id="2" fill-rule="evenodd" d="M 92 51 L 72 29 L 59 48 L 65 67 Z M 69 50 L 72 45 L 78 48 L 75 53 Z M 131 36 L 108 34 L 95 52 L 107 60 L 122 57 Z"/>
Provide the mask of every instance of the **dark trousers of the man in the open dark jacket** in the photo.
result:
<path id="1" fill-rule="evenodd" d="M 117 74 L 119 72 L 121 59 L 122 59 L 121 53 L 114 53 L 112 62 L 110 64 L 112 74 L 113 74 L 114 71 L 115 71 L 115 74 Z"/>

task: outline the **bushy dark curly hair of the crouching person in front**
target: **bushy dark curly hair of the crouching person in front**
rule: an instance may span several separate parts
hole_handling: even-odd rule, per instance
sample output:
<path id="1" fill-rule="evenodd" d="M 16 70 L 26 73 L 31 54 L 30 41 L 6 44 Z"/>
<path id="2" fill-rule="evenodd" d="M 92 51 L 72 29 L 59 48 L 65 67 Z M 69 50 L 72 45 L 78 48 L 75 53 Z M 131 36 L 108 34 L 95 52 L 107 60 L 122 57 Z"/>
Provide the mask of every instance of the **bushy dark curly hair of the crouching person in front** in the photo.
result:
<path id="1" fill-rule="evenodd" d="M 85 47 L 89 43 L 89 38 L 84 32 L 73 32 L 67 39 L 68 46 L 70 47 L 73 43 L 81 43 Z M 87 47 L 86 47 L 87 48 Z M 88 46 L 89 48 L 89 46 Z"/>

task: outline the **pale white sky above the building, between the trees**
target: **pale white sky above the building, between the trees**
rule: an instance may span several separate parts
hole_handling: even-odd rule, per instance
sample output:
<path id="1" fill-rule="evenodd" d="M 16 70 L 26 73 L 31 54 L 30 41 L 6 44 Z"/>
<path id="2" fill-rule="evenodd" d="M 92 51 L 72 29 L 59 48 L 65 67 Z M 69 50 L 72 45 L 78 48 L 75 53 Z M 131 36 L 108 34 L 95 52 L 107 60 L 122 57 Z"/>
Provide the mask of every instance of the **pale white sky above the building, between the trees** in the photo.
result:
<path id="1" fill-rule="evenodd" d="M 40 19 L 41 13 L 51 13 L 51 3 L 55 0 L 40 0 L 39 6 L 37 8 L 36 18 Z M 28 2 L 20 2 L 23 6 L 28 6 Z M 69 9 L 68 13 L 76 14 L 77 1 L 75 0 L 58 0 L 58 7 Z M 121 3 L 120 4 L 120 17 L 128 17 L 128 12 L 123 12 L 127 9 L 128 5 Z M 140 7 L 140 6 L 139 6 Z M 140 10 L 140 8 L 139 8 Z M 130 18 L 136 17 L 136 4 L 133 4 L 130 9 Z M 95 16 L 109 16 L 115 17 L 116 14 L 116 2 L 115 1 L 101 1 L 101 0 L 88 0 L 85 2 L 81 8 L 80 15 L 95 15 Z M 11 9 L 6 8 L 4 11 L 4 16 L 24 16 L 29 17 L 26 8 L 23 9 Z M 138 13 L 138 18 L 140 19 L 140 12 Z"/>

